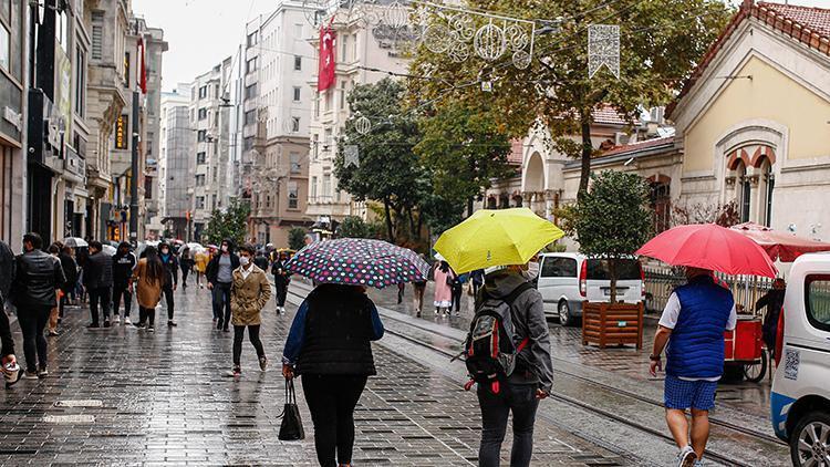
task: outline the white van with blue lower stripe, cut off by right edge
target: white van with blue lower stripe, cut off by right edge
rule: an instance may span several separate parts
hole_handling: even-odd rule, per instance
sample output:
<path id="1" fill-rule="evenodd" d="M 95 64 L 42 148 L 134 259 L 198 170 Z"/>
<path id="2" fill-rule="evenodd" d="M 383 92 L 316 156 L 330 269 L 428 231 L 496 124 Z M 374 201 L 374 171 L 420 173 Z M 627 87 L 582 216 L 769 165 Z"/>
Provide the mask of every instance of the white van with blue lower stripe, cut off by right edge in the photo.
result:
<path id="1" fill-rule="evenodd" d="M 830 465 L 830 253 L 796 259 L 778 326 L 770 415 L 792 465 Z"/>

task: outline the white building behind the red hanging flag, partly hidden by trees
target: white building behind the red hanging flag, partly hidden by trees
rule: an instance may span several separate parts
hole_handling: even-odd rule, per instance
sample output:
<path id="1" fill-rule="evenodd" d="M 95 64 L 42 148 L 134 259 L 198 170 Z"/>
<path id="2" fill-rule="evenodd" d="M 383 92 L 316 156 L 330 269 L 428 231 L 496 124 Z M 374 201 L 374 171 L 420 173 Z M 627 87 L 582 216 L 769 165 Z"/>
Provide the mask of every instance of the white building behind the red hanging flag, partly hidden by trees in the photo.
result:
<path id="1" fill-rule="evenodd" d="M 365 217 L 365 206 L 352 203 L 350 196 L 338 189 L 334 177 L 336 138 L 350 116 L 349 93 L 357 84 L 369 84 L 386 77 L 386 73 L 366 71 L 365 68 L 406 72 L 407 60 L 398 56 L 395 49 L 382 44 L 363 27 L 359 18 L 342 20 L 338 15 L 332 23 L 335 31 L 335 81 L 323 92 L 317 92 L 317 73 L 311 81 L 315 94 L 309 132 L 311 152 L 309 162 L 309 206 L 307 215 L 318 222 L 329 224 L 345 216 Z M 318 55 L 319 35 L 312 38 Z M 311 64 L 317 71 L 317 60 Z"/>

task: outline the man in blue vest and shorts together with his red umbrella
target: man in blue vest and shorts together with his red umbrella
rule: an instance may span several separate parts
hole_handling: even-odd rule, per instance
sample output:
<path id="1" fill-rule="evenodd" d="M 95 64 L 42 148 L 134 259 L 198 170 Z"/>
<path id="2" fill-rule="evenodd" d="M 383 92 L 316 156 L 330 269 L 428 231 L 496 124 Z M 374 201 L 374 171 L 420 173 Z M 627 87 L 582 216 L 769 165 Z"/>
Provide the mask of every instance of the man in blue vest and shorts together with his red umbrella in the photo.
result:
<path id="1" fill-rule="evenodd" d="M 663 369 L 665 350 L 664 403 L 666 424 L 679 449 L 676 465 L 699 466 L 709 438 L 709 411 L 724 374 L 724 332 L 737 324 L 732 292 L 713 271 L 775 277 L 776 269 L 753 240 L 714 224 L 666 230 L 636 253 L 686 268 L 687 283 L 670 295 L 660 319 L 649 371 L 656 376 Z"/>

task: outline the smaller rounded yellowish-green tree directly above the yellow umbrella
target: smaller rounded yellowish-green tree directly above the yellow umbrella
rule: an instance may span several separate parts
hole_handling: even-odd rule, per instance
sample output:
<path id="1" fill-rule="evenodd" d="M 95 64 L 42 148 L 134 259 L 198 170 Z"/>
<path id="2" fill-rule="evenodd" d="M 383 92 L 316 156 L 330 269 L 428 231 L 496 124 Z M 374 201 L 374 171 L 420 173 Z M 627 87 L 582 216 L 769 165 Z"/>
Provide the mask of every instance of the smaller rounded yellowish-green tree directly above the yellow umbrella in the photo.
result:
<path id="1" fill-rule="evenodd" d="M 435 196 L 457 206 L 467 206 L 495 178 L 511 174 L 507 164 L 510 141 L 499 127 L 488 105 L 450 101 L 419 121 L 423 139 L 415 146 L 429 168 Z"/>

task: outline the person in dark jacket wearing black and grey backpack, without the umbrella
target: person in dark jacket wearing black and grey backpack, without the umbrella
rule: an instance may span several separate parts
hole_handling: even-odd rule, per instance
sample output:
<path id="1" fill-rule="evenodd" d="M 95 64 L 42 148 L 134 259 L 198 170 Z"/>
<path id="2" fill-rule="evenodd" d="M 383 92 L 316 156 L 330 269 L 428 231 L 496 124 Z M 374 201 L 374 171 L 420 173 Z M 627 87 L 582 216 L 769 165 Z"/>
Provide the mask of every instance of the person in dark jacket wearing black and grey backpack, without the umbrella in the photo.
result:
<path id="1" fill-rule="evenodd" d="M 527 264 L 488 271 L 476 297 L 476 315 L 465 344 L 470 382 L 481 407 L 481 467 L 499 465 L 512 412 L 511 467 L 527 467 L 533 452 L 539 401 L 553 386 L 550 335 L 542 297 L 527 280 Z"/>

